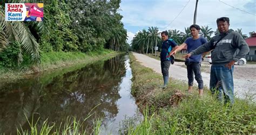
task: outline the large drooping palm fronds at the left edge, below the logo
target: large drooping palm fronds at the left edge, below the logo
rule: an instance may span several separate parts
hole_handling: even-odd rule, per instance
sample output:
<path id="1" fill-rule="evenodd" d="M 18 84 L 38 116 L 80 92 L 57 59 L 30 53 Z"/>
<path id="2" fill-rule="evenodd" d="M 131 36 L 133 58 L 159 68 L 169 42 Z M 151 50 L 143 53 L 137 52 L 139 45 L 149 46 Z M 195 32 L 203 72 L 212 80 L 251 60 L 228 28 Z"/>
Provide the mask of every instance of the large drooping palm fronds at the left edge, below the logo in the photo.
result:
<path id="1" fill-rule="evenodd" d="M 24 22 L 7 22 L 4 17 L 4 10 L 0 5 L 0 50 L 9 45 L 10 42 L 17 41 L 21 44 L 18 53 L 18 64 L 23 61 L 23 53 L 28 53 L 32 62 L 39 62 L 39 44 L 36 42 L 35 37 L 25 26 Z"/>

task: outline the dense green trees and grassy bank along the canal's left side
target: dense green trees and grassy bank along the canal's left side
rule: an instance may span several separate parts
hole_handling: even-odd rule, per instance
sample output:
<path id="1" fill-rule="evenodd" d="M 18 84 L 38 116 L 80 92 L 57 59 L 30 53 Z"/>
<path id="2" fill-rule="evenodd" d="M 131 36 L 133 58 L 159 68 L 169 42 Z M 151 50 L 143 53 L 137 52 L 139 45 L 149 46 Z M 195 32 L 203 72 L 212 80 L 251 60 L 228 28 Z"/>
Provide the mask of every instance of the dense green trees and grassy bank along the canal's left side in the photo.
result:
<path id="1" fill-rule="evenodd" d="M 43 22 L 5 21 L 5 3 L 42 1 L 0 2 L 1 77 L 8 71 L 37 72 L 38 68 L 58 68 L 66 65 L 63 62 L 79 62 L 129 48 L 127 31 L 121 22 L 123 16 L 117 12 L 120 1 L 45 1 Z"/>

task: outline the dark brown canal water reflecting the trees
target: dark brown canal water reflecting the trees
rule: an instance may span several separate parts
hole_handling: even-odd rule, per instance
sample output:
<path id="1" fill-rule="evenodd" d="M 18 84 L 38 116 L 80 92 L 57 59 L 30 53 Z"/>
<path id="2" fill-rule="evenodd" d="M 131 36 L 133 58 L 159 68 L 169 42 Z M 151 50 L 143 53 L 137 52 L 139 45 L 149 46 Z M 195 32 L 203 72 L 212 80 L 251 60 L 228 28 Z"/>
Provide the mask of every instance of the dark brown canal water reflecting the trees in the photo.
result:
<path id="1" fill-rule="evenodd" d="M 122 104 L 118 102 L 119 91 L 131 85 L 125 82 L 131 78 L 127 64 L 127 56 L 117 56 L 55 77 L 24 79 L 0 87 L 0 132 L 14 134 L 20 125 L 27 129 L 25 115 L 31 120 L 33 113 L 34 120 L 40 117 L 39 126 L 47 118 L 57 123 L 65 122 L 69 116 L 84 119 L 98 104 L 93 110 L 95 116 L 85 122 L 87 130 L 91 131 L 95 117 L 103 117 L 105 124 L 113 122 L 123 110 L 118 105 Z M 125 100 L 131 102 L 131 98 Z"/>

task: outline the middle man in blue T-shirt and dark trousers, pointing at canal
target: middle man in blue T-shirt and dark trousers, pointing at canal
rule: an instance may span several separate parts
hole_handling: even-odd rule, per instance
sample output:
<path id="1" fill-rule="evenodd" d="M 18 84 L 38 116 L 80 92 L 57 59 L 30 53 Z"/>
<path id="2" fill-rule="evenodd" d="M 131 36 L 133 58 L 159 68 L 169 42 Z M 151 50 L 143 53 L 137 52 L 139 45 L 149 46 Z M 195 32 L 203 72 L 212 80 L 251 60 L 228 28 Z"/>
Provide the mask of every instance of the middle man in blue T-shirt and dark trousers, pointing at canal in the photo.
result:
<path id="1" fill-rule="evenodd" d="M 177 51 L 182 50 L 185 46 L 187 46 L 187 52 L 190 53 L 191 51 L 197 49 L 199 46 L 203 45 L 207 42 L 204 37 L 199 36 L 200 26 L 197 24 L 193 24 L 190 26 L 191 36 L 185 40 L 183 44 L 179 46 L 176 50 L 173 50 L 170 55 L 175 55 Z M 190 58 L 186 59 L 185 65 L 187 66 L 187 78 L 188 78 L 188 92 L 192 91 L 192 86 L 194 82 L 194 75 L 195 79 L 198 83 L 199 89 L 199 96 L 203 96 L 203 89 L 204 83 L 201 76 L 201 58 L 202 54 L 200 55 L 193 55 Z"/>

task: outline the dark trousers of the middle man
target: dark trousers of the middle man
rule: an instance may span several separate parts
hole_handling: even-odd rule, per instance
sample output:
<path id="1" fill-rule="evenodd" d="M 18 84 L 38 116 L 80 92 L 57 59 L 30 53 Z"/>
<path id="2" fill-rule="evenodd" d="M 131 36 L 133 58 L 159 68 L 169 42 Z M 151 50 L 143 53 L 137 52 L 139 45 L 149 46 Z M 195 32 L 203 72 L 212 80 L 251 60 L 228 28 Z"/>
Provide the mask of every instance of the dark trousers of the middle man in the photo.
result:
<path id="1" fill-rule="evenodd" d="M 204 82 L 203 82 L 203 79 L 201 76 L 201 70 L 200 70 L 201 63 L 200 62 L 188 62 L 186 65 L 187 65 L 188 86 L 193 86 L 194 78 L 195 78 L 198 83 L 198 89 L 203 89 Z"/>

